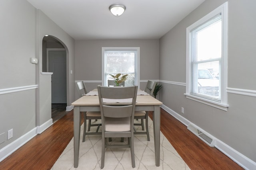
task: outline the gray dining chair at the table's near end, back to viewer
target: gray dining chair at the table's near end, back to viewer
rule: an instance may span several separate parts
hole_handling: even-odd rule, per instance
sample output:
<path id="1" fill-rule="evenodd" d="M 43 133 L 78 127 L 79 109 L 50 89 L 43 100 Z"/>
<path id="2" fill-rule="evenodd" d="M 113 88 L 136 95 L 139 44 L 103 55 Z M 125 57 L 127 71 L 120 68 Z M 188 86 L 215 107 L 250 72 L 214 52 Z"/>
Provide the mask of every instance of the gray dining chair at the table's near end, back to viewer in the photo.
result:
<path id="1" fill-rule="evenodd" d="M 132 168 L 135 168 L 134 158 L 134 111 L 138 86 L 129 87 L 106 87 L 98 86 L 100 112 L 102 120 L 102 151 L 101 166 L 104 168 L 106 148 L 130 148 Z M 108 103 L 106 100 L 119 100 L 118 103 Z M 128 99 L 126 103 L 120 102 Z M 104 101 L 105 100 L 105 101 Z M 106 138 L 127 137 L 128 144 L 111 145 Z"/>

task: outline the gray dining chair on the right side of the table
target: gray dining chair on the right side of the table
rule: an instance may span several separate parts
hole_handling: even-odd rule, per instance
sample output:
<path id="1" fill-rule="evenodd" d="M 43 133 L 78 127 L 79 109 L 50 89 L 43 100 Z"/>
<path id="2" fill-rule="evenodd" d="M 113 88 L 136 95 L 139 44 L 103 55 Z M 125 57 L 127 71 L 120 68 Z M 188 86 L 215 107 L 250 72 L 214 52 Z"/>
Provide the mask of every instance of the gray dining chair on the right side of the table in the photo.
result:
<path id="1" fill-rule="evenodd" d="M 153 92 L 154 92 L 155 87 L 156 87 L 156 82 L 148 80 L 144 91 L 146 93 L 150 94 L 150 96 L 154 97 Z M 148 141 L 150 141 L 149 130 L 148 130 L 148 111 L 135 111 L 134 119 L 136 119 L 136 120 L 140 119 L 140 123 L 134 123 L 134 125 L 142 127 L 142 131 L 140 131 L 140 132 L 136 131 L 136 129 L 134 128 L 134 134 L 146 134 Z M 144 119 L 146 122 L 146 131 L 145 131 L 145 127 L 144 127 Z"/>

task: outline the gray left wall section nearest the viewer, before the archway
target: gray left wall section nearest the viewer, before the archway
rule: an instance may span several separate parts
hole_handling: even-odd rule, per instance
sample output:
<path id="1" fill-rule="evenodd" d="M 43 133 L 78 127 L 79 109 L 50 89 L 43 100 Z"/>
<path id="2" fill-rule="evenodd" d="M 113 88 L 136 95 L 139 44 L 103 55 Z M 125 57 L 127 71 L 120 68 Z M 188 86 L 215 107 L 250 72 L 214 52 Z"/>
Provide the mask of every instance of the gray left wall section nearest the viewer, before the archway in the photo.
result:
<path id="1" fill-rule="evenodd" d="M 36 84 L 36 9 L 27 1 L 0 2 L 0 89 Z M 36 127 L 36 89 L 0 94 L 0 149 Z M 13 138 L 7 141 L 7 131 Z"/>

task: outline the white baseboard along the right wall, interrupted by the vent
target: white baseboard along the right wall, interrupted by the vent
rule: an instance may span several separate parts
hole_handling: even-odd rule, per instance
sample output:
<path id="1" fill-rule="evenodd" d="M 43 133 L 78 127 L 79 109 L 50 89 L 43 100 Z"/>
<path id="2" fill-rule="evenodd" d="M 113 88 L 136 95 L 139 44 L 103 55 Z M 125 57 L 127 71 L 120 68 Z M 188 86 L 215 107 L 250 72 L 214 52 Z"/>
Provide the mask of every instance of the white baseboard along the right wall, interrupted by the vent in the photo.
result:
<path id="1" fill-rule="evenodd" d="M 178 114 L 175 111 L 173 111 L 172 109 L 170 109 L 169 107 L 167 107 L 165 105 L 162 105 L 161 107 L 162 107 L 162 109 L 167 111 L 170 115 L 172 115 L 173 117 L 178 119 L 178 121 L 180 121 L 181 123 L 186 125 L 187 127 L 190 123 L 192 123 L 188 119 L 182 117 L 180 114 Z M 204 131 L 203 129 L 200 129 L 200 130 Z M 206 132 L 206 131 L 204 131 L 204 132 Z M 206 132 L 206 133 L 208 133 L 208 132 Z M 215 142 L 214 147 L 216 147 L 218 150 L 220 150 L 222 153 L 224 153 L 226 156 L 228 156 L 230 159 L 232 159 L 234 162 L 236 162 L 242 168 L 244 168 L 246 170 L 254 170 L 254 169 L 256 170 L 256 162 L 247 158 L 246 156 L 244 156 L 237 150 L 233 149 L 232 147 L 226 145 L 224 142 L 220 141 L 219 139 L 215 138 L 214 136 L 211 135 L 211 137 L 214 138 L 214 142 Z"/>

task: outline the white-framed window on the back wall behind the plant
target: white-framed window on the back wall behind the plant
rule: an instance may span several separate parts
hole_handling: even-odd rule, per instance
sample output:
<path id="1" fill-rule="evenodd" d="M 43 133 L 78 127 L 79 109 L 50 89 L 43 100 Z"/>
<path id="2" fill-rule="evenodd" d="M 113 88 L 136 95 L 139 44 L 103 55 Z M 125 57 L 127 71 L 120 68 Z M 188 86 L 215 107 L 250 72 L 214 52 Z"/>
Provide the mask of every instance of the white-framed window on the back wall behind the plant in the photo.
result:
<path id="1" fill-rule="evenodd" d="M 140 47 L 102 47 L 102 85 L 113 80 L 109 74 L 128 74 L 125 86 L 139 84 Z"/>

